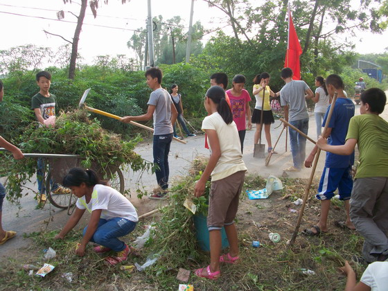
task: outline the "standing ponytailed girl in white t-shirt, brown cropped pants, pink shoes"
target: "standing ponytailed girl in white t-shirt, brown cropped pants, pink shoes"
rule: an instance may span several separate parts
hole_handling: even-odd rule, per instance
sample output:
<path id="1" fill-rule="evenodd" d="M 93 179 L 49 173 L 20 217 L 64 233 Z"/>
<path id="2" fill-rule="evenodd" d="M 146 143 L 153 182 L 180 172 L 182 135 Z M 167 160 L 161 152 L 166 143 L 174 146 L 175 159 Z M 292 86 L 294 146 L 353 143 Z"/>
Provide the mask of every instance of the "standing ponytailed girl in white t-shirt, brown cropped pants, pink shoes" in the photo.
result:
<path id="1" fill-rule="evenodd" d="M 211 177 L 209 196 L 210 265 L 195 270 L 195 274 L 206 279 L 220 277 L 220 263 L 233 264 L 238 261 L 238 238 L 234 225 L 238 209 L 238 197 L 244 184 L 245 167 L 236 123 L 225 99 L 225 92 L 219 86 L 213 86 L 206 92 L 204 106 L 209 116 L 202 122 L 211 155 L 204 173 L 195 184 L 194 194 L 204 194 L 205 184 Z M 229 253 L 221 253 L 221 229 L 225 227 L 229 240 Z"/>

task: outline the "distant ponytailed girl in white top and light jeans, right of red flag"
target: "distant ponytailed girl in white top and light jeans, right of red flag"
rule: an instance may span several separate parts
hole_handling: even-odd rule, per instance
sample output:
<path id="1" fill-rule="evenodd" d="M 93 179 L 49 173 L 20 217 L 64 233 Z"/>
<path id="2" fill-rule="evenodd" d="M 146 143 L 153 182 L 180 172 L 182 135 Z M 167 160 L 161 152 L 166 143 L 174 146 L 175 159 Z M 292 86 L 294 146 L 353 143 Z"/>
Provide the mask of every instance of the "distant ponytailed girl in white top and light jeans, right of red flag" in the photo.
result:
<path id="1" fill-rule="evenodd" d="M 322 121 L 324 120 L 328 105 L 330 105 L 330 96 L 326 89 L 325 80 L 323 77 L 318 76 L 315 78 L 315 96 L 311 98 L 315 102 L 314 115 L 315 123 L 317 124 L 317 137 L 322 132 Z"/>

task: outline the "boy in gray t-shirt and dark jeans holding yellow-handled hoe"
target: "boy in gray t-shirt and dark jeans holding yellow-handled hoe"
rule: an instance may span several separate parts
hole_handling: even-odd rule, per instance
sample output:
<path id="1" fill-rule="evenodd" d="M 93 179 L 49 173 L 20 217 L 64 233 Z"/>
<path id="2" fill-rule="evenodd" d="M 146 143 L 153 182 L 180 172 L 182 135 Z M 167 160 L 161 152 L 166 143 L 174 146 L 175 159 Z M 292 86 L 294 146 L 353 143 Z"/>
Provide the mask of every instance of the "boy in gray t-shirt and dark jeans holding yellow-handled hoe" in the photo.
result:
<path id="1" fill-rule="evenodd" d="M 152 145 L 154 154 L 154 163 L 158 169 L 155 170 L 157 183 L 161 191 L 152 195 L 152 198 L 162 199 L 166 195 L 168 188 L 168 152 L 173 140 L 173 124 L 177 119 L 177 109 L 170 98 L 170 94 L 161 87 L 162 73 L 159 68 L 150 68 L 145 71 L 147 85 L 152 89 L 150 100 L 148 100 L 148 110 L 146 114 L 139 116 L 124 116 L 121 122 L 130 123 L 130 121 L 149 121 L 154 118 L 154 142 Z"/>

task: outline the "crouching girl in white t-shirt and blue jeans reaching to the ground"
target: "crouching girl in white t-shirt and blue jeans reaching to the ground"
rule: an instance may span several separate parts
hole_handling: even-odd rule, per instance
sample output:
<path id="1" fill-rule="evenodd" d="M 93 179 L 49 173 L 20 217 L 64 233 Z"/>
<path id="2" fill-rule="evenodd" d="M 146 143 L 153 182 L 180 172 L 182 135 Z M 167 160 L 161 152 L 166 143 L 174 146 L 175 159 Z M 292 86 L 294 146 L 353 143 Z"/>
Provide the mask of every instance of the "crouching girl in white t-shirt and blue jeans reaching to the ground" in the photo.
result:
<path id="1" fill-rule="evenodd" d="M 91 217 L 76 254 L 85 256 L 86 245 L 91 241 L 99 245 L 94 247 L 97 253 L 111 250 L 117 252 L 116 256 L 105 258 L 107 263 L 116 265 L 127 260 L 128 254 L 134 252 L 134 248 L 128 247 L 118 238 L 133 231 L 138 221 L 136 209 L 130 200 L 114 188 L 101 184 L 93 170 L 72 168 L 64 177 L 63 186 L 70 188 L 78 200 L 76 211 L 55 238 L 63 239 L 78 224 L 87 210 Z"/>

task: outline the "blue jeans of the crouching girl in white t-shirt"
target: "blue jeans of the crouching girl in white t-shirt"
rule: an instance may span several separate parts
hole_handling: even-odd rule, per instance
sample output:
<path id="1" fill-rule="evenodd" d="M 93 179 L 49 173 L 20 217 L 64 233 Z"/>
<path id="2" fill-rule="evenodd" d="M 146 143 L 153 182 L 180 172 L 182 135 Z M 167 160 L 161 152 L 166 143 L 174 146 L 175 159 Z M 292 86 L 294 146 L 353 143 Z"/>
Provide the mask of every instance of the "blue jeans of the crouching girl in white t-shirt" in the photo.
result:
<path id="1" fill-rule="evenodd" d="M 126 236 L 133 231 L 136 223 L 125 218 L 112 218 L 111 220 L 100 218 L 98 227 L 90 241 L 98 245 L 103 245 L 104 247 L 109 247 L 114 252 L 121 252 L 125 249 L 125 243 L 118 240 L 118 238 Z M 84 236 L 86 231 L 87 227 L 84 229 Z"/>

